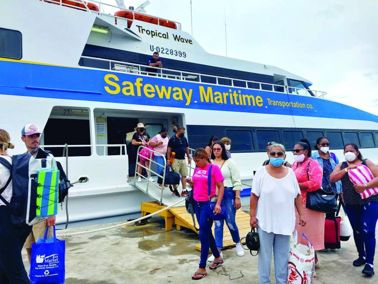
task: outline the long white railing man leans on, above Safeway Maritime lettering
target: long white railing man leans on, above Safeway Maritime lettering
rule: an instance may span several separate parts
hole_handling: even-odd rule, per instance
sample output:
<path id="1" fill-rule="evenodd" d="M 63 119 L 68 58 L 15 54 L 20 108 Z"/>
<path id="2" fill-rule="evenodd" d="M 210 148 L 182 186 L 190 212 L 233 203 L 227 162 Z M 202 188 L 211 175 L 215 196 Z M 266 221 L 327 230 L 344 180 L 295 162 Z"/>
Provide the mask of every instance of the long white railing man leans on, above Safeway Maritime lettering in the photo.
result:
<path id="1" fill-rule="evenodd" d="M 264 83 L 264 82 L 250 81 L 250 80 L 237 79 L 237 78 L 231 78 L 231 77 L 208 75 L 208 74 L 195 73 L 195 72 L 190 72 L 190 71 L 174 70 L 174 69 L 168 69 L 168 68 L 157 68 L 157 67 L 153 67 L 153 66 L 147 66 L 147 65 L 125 62 L 125 61 L 118 61 L 118 60 L 111 60 L 111 59 L 105 59 L 105 58 L 97 58 L 97 57 L 90 57 L 90 56 L 81 56 L 80 58 L 109 62 L 109 69 L 108 70 L 112 70 L 112 68 L 111 68 L 112 63 L 114 63 L 114 64 L 119 63 L 119 64 L 124 65 L 126 71 L 127 71 L 128 67 L 130 68 L 130 66 L 133 66 L 133 67 L 136 67 L 138 74 L 146 75 L 146 76 L 149 76 L 149 73 L 152 73 L 152 72 L 142 71 L 141 68 L 143 68 L 143 69 L 153 68 L 153 69 L 156 69 L 156 70 L 159 71 L 158 73 L 154 73 L 154 77 L 156 77 L 155 75 L 157 75 L 157 76 L 160 76 L 162 78 L 165 77 L 165 78 L 169 78 L 169 79 L 173 79 L 173 80 L 197 82 L 194 79 L 198 78 L 199 82 L 202 83 L 203 77 L 205 77 L 205 78 L 210 77 L 210 78 L 214 78 L 216 83 L 215 84 L 214 83 L 206 83 L 206 84 L 230 87 L 230 85 L 220 84 L 219 79 L 222 79 L 222 80 L 230 80 L 231 86 L 235 86 L 234 81 L 243 82 L 243 83 L 245 83 L 245 87 L 239 87 L 239 86 L 237 86 L 237 87 L 238 88 L 244 88 L 244 89 L 269 91 L 269 92 L 280 93 L 280 94 L 282 94 L 282 93 L 291 94 L 291 93 L 289 93 L 289 89 L 293 89 L 293 90 L 295 90 L 296 93 L 297 93 L 297 91 L 306 91 L 306 94 L 311 95 L 311 92 L 312 92 L 316 97 L 324 97 L 324 95 L 327 94 L 326 92 L 323 92 L 323 91 L 316 91 L 316 90 L 310 90 L 310 89 L 305 89 L 305 88 L 289 87 L 289 86 L 272 84 L 272 83 Z M 90 69 L 99 69 L 99 68 L 91 68 L 91 67 L 86 67 L 86 66 L 83 66 L 83 67 L 90 68 Z M 100 69 L 100 70 L 104 70 L 104 69 Z M 114 71 L 114 70 L 112 70 L 112 71 Z M 117 71 L 117 70 L 115 70 L 115 71 Z M 164 71 L 176 72 L 176 73 L 178 73 L 178 75 L 163 73 Z M 130 72 L 133 73 L 131 71 L 131 69 L 130 69 Z M 189 76 L 192 76 L 192 77 L 189 77 Z M 250 85 L 248 83 L 250 83 Z M 258 88 L 254 88 L 253 84 L 257 84 Z M 271 90 L 263 89 L 265 86 L 270 86 Z M 276 89 L 284 89 L 284 91 L 282 91 L 282 92 L 276 91 Z M 293 95 L 296 95 L 296 94 L 293 94 Z"/>

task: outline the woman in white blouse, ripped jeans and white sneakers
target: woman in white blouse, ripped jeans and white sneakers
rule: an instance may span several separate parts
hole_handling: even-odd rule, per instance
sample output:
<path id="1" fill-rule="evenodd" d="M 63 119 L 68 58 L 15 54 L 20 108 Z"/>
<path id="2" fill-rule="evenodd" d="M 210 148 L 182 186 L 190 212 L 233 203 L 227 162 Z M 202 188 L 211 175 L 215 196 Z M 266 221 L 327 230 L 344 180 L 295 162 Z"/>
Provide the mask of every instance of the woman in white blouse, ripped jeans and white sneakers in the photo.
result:
<path id="1" fill-rule="evenodd" d="M 240 257 L 244 256 L 244 249 L 240 243 L 239 229 L 236 225 L 235 215 L 236 211 L 242 206 L 240 202 L 240 191 L 242 189 L 242 182 L 240 180 L 240 173 L 232 159 L 227 157 L 226 148 L 221 141 L 213 144 L 213 151 L 211 154 L 212 164 L 221 168 L 224 178 L 224 194 L 223 202 L 226 207 L 227 217 L 226 224 L 230 230 L 232 240 L 236 243 L 236 254 Z M 219 252 L 222 255 L 223 248 L 223 224 L 224 220 L 215 221 L 215 243 Z M 213 261 L 214 256 L 208 258 L 208 261 Z"/>

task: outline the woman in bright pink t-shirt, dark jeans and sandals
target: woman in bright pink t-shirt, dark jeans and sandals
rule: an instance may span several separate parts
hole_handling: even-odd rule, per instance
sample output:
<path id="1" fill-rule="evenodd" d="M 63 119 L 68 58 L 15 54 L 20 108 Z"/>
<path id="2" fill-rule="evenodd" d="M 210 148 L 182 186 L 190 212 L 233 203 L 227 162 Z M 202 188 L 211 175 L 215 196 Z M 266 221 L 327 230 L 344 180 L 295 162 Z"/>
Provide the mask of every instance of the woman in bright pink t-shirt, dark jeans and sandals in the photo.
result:
<path id="1" fill-rule="evenodd" d="M 207 275 L 206 272 L 206 260 L 209 254 L 209 248 L 213 253 L 215 259 L 209 266 L 210 269 L 216 269 L 223 264 L 222 257 L 215 244 L 215 239 L 211 231 L 213 226 L 213 220 L 208 218 L 208 208 L 210 206 L 210 199 L 217 198 L 217 204 L 215 205 L 215 213 L 221 212 L 221 202 L 223 198 L 224 186 L 223 176 L 219 166 L 211 165 L 209 163 L 209 156 L 205 149 L 198 148 L 193 154 L 193 160 L 196 164 L 192 180 L 188 180 L 189 185 L 194 190 L 193 196 L 195 200 L 195 211 L 197 221 L 200 225 L 200 241 L 201 241 L 201 257 L 200 268 L 192 276 L 193 280 L 199 280 Z M 211 167 L 210 167 L 211 166 Z M 211 168 L 211 187 L 210 196 L 208 195 L 208 174 Z M 216 197 L 216 188 L 218 187 L 218 197 Z"/>

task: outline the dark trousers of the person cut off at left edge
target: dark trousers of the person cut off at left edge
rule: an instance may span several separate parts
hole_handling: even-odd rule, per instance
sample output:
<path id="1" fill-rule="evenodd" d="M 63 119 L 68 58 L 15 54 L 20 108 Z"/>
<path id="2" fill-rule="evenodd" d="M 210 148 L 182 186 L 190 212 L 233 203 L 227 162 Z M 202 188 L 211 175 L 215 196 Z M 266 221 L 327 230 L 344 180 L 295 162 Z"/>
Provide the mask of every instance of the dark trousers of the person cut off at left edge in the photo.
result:
<path id="1" fill-rule="evenodd" d="M 30 284 L 23 266 L 21 250 L 31 226 L 16 227 L 6 206 L 0 206 L 0 283 Z"/>

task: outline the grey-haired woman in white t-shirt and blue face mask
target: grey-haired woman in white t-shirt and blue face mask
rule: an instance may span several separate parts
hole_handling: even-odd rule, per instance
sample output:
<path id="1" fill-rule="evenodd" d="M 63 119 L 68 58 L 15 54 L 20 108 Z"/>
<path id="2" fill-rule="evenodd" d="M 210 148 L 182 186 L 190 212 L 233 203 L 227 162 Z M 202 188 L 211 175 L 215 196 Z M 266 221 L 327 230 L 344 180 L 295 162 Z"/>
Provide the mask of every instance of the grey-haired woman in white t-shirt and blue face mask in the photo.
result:
<path id="1" fill-rule="evenodd" d="M 295 227 L 294 206 L 299 212 L 299 224 L 306 225 L 302 213 L 301 191 L 291 168 L 283 166 L 285 147 L 273 144 L 270 163 L 260 167 L 252 182 L 250 225 L 257 228 L 260 238 L 259 280 L 270 283 L 272 251 L 277 284 L 286 284 L 290 238 Z"/>

